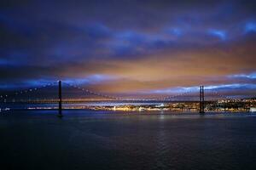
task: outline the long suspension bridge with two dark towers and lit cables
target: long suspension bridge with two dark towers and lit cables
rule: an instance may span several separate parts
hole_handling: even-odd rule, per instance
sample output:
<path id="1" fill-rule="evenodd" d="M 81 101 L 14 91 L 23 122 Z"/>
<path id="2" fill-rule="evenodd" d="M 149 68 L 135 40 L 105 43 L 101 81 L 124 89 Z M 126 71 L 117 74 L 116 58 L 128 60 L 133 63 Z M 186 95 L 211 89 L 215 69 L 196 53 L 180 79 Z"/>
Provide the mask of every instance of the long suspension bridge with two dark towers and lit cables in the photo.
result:
<path id="1" fill-rule="evenodd" d="M 247 96 L 253 98 L 255 96 Z M 69 82 L 52 82 L 37 88 L 27 88 L 22 90 L 11 90 L 0 95 L 0 104 L 57 104 L 59 116 L 62 116 L 62 104 L 78 104 L 84 102 L 154 102 L 161 103 L 195 103 L 199 104 L 198 111 L 205 113 L 207 104 L 212 104 L 218 100 L 240 101 L 245 96 L 230 97 L 230 95 L 220 94 L 214 89 L 199 87 L 199 91 L 188 89 L 187 91 L 175 95 L 161 95 L 148 98 L 131 98 L 122 95 L 111 95 L 92 91 L 79 85 Z M 1 107 L 0 107 L 1 108 Z"/>

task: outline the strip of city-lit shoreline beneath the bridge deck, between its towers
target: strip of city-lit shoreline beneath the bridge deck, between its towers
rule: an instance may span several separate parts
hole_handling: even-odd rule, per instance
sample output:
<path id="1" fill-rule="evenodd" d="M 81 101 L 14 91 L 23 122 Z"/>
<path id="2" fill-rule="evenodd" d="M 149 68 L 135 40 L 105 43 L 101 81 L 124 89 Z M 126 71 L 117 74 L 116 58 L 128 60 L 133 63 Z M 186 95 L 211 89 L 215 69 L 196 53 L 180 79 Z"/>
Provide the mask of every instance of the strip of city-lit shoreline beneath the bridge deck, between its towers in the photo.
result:
<path id="1" fill-rule="evenodd" d="M 44 104 L 44 102 L 28 103 L 3 103 L 2 111 L 6 110 L 57 110 L 56 104 Z M 197 112 L 199 103 L 183 101 L 79 101 L 72 103 L 66 101 L 64 110 L 92 110 L 92 111 L 172 111 L 172 112 Z M 254 112 L 255 99 L 218 100 L 208 101 L 205 104 L 207 112 Z M 1 110 L 0 110 L 1 111 Z"/>

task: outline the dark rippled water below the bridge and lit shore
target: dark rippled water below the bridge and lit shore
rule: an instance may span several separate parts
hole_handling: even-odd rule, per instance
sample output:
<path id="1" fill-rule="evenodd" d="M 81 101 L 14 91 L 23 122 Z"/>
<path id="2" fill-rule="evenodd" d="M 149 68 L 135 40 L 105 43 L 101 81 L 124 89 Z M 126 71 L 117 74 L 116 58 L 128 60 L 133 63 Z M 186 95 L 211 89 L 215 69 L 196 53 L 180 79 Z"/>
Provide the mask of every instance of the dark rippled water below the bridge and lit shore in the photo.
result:
<path id="1" fill-rule="evenodd" d="M 0 169 L 256 169 L 256 116 L 15 111 Z"/>

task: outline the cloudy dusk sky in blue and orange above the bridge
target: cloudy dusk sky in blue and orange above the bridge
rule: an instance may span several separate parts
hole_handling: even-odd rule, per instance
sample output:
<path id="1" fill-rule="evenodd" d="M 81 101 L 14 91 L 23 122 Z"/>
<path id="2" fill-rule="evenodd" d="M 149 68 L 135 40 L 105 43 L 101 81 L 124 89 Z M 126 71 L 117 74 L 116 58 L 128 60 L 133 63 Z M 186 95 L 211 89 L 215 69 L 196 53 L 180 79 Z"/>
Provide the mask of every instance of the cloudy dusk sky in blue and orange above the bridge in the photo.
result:
<path id="1" fill-rule="evenodd" d="M 255 1 L 3 0 L 0 89 L 255 94 L 255 42 Z"/>

